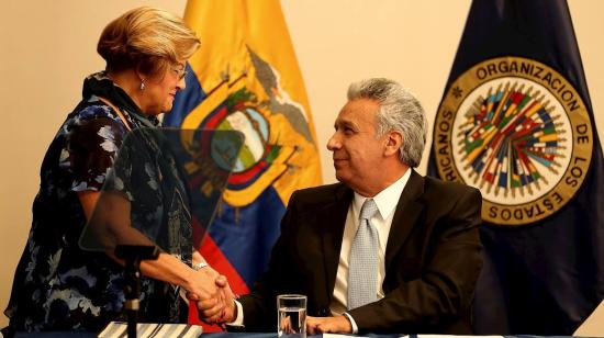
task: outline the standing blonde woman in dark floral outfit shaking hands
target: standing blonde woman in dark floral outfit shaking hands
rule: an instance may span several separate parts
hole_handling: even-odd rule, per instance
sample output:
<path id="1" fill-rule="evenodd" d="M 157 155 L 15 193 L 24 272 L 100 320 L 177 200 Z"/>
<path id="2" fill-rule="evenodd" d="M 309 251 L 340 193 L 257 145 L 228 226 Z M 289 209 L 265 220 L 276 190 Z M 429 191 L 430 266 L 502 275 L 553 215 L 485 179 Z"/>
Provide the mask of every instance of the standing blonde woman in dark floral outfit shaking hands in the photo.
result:
<path id="1" fill-rule="evenodd" d="M 199 46 L 180 18 L 148 7 L 124 13 L 102 32 L 97 50 L 107 68 L 86 78 L 81 102 L 42 164 L 32 228 L 4 312 L 11 330 L 99 331 L 111 320 L 124 319 L 122 266 L 102 252 L 82 250 L 78 239 L 124 137 L 133 129 L 159 126 L 157 115 L 170 111 L 175 94 L 184 89 L 186 61 Z M 148 167 L 132 174 L 136 182 L 147 182 L 150 192 L 165 173 Z M 186 195 L 182 185 L 177 182 L 171 189 Z M 127 196 L 127 187 L 121 193 Z M 187 201 L 149 201 L 145 207 L 133 204 L 133 222 L 168 218 L 169 224 L 190 226 Z M 187 313 L 181 311 L 186 307 L 179 288 L 215 303 L 213 313 L 221 313 L 226 289 L 192 251 L 164 251 L 158 260 L 143 262 L 141 320 L 182 322 Z M 195 270 L 195 264 L 204 268 Z"/>

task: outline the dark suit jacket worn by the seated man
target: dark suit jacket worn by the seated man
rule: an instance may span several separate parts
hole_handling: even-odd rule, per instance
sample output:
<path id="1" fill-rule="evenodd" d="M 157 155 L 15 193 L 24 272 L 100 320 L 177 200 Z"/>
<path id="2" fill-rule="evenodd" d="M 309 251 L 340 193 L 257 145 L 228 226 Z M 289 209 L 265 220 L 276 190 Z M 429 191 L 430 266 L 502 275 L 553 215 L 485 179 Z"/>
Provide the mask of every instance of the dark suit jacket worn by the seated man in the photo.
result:
<path id="1" fill-rule="evenodd" d="M 342 183 L 293 193 L 267 272 L 239 300 L 246 330 L 276 330 L 277 294 L 305 294 L 310 316 L 331 315 L 353 196 Z M 388 237 L 385 296 L 349 312 L 360 334 L 471 334 L 481 203 L 477 189 L 412 171 Z"/>

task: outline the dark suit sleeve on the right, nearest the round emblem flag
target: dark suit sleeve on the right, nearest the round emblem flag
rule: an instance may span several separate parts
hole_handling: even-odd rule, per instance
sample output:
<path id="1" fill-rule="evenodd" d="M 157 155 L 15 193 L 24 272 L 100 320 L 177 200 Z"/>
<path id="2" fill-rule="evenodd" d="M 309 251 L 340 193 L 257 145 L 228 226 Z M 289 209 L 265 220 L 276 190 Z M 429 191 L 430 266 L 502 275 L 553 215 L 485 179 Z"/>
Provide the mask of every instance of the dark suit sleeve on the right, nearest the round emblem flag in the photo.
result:
<path id="1" fill-rule="evenodd" d="M 427 238 L 421 277 L 401 281 L 374 303 L 349 312 L 359 333 L 416 333 L 446 327 L 469 318 L 473 290 L 482 268 L 478 228 L 481 224 L 480 192 L 463 189 L 450 212 L 436 221 Z M 422 238 L 414 238 L 422 240 Z M 387 272 L 388 273 L 388 272 Z"/>

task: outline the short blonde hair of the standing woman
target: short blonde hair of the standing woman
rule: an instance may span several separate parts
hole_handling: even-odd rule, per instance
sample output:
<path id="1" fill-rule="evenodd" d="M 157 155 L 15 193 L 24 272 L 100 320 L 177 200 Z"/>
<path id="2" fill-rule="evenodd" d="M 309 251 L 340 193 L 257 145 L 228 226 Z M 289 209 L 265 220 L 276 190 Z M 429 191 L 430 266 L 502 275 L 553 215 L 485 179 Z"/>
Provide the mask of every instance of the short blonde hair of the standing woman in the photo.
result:
<path id="1" fill-rule="evenodd" d="M 170 64 L 189 59 L 199 45 L 195 33 L 182 19 L 157 8 L 141 7 L 104 27 L 97 52 L 110 71 L 134 68 L 155 75 Z"/>

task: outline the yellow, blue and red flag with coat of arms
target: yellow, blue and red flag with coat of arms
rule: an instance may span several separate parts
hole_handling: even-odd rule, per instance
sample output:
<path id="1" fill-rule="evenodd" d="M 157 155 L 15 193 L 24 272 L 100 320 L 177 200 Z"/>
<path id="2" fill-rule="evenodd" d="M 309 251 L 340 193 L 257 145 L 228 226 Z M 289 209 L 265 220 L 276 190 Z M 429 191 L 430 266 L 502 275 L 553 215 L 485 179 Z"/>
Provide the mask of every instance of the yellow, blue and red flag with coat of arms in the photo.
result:
<path id="1" fill-rule="evenodd" d="M 246 293 L 268 263 L 292 192 L 321 183 L 309 100 L 278 0 L 190 0 L 184 21 L 201 47 L 164 123 L 245 137 L 201 252 Z"/>

